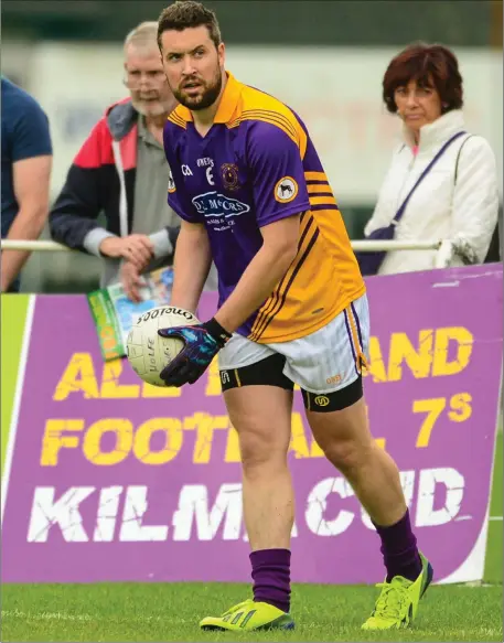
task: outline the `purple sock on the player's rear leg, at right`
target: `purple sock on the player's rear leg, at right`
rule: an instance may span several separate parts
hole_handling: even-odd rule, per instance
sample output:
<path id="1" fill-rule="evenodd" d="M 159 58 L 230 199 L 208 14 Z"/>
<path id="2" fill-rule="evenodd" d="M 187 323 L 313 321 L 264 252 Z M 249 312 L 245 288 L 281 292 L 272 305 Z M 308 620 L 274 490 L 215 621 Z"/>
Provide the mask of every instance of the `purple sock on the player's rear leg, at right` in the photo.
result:
<path id="1" fill-rule="evenodd" d="M 395 576 L 416 580 L 421 572 L 421 560 L 417 548 L 417 538 L 411 532 L 409 510 L 395 525 L 379 527 L 375 525 L 382 538 L 382 554 L 387 568 L 387 582 Z"/>

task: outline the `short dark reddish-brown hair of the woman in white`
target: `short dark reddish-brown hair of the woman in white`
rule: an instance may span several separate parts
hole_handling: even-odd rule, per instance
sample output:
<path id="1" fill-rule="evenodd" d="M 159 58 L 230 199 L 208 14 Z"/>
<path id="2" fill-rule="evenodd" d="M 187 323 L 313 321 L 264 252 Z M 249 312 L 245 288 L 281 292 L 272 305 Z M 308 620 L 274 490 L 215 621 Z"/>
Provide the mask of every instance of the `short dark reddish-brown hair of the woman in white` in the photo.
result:
<path id="1" fill-rule="evenodd" d="M 460 109 L 463 105 L 459 62 L 453 52 L 443 45 L 414 43 L 390 61 L 383 79 L 383 99 L 392 114 L 397 111 L 395 90 L 410 81 L 416 81 L 420 87 L 437 89 L 442 114 Z"/>

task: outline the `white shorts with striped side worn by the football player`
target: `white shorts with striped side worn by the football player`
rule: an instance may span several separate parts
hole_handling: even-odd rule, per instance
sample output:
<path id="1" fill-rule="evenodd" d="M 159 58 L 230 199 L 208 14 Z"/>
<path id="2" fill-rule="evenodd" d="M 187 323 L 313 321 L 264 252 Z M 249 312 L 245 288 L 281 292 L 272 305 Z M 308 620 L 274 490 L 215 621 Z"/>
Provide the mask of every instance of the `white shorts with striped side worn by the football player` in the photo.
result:
<path id="1" fill-rule="evenodd" d="M 280 354 L 286 358 L 283 375 L 294 384 L 310 393 L 333 393 L 360 377 L 368 345 L 369 309 L 363 294 L 325 326 L 299 340 L 257 344 L 235 333 L 218 354 L 218 366 L 224 382 L 223 372 Z"/>

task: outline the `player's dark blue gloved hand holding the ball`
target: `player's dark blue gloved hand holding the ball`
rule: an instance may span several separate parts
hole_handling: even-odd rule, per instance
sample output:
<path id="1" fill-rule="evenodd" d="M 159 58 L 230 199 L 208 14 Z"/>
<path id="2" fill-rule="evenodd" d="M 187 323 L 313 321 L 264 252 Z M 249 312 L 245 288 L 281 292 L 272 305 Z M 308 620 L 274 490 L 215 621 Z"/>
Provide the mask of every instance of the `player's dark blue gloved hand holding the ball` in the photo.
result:
<path id="1" fill-rule="evenodd" d="M 232 336 L 215 319 L 194 326 L 160 329 L 158 334 L 184 342 L 182 351 L 160 373 L 167 386 L 176 387 L 194 384 Z"/>

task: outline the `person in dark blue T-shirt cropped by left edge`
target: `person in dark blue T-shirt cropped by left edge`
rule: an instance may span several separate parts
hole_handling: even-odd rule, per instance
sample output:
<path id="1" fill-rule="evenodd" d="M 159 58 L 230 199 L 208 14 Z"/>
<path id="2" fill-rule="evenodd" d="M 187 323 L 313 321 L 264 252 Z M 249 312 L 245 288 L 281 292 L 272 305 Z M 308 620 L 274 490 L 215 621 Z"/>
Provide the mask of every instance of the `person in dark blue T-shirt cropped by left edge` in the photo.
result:
<path id="1" fill-rule="evenodd" d="M 53 149 L 39 103 L 2 76 L 2 239 L 39 238 L 49 213 Z M 17 292 L 30 253 L 2 250 L 2 292 Z"/>

